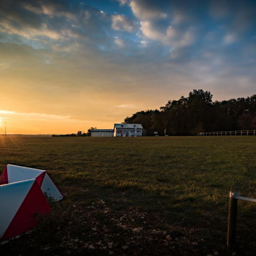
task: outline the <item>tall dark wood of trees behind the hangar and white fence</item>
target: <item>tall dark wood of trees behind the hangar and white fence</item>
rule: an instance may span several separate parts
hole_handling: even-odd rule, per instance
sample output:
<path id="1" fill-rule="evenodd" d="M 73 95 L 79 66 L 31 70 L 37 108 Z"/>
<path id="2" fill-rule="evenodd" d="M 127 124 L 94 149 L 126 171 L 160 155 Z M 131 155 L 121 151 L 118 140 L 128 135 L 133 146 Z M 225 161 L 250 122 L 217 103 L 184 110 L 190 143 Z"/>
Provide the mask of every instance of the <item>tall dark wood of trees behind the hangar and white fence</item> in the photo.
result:
<path id="1" fill-rule="evenodd" d="M 256 94 L 212 102 L 210 91 L 193 90 L 188 97 L 168 100 L 156 110 L 139 111 L 123 123 L 142 124 L 148 135 L 195 135 L 198 132 L 256 129 Z"/>

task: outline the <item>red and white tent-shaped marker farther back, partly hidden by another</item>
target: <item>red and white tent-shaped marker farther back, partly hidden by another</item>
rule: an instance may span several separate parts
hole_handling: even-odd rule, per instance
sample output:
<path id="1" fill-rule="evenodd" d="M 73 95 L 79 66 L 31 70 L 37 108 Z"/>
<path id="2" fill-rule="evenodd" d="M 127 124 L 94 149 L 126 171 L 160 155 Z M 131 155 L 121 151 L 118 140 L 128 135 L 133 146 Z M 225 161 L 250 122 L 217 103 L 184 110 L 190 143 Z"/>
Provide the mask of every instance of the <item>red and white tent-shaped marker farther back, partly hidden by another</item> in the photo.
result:
<path id="1" fill-rule="evenodd" d="M 0 176 L 0 185 L 30 179 L 36 179 L 42 192 L 54 201 L 63 198 L 60 190 L 45 170 L 8 164 Z"/>

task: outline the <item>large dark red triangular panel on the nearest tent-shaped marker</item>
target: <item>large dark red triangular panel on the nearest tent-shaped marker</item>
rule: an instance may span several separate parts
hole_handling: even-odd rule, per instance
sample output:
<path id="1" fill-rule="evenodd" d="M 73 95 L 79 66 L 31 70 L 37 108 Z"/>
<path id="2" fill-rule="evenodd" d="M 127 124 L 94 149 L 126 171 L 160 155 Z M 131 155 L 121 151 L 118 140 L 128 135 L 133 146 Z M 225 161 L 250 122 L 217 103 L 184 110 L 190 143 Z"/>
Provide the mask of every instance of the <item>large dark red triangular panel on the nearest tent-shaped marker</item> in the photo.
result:
<path id="1" fill-rule="evenodd" d="M 31 230 L 37 224 L 36 214 L 49 213 L 50 210 L 42 190 L 38 183 L 34 182 L 1 240 L 6 240 Z"/>

